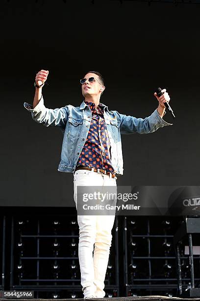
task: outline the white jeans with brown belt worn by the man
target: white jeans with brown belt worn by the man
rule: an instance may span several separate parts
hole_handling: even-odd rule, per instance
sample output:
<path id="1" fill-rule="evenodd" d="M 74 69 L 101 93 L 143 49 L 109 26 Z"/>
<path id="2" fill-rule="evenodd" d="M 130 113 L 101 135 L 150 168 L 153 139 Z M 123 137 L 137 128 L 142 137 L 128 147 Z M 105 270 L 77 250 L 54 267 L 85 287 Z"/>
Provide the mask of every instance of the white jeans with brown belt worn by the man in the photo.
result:
<path id="1" fill-rule="evenodd" d="M 77 186 L 116 186 L 116 179 L 93 170 L 74 174 L 74 200 L 77 209 Z M 115 188 L 114 188 L 115 189 Z M 115 215 L 77 215 L 79 226 L 78 258 L 84 298 L 103 298 L 104 280 L 112 241 Z M 95 248 L 94 248 L 95 244 Z M 93 256 L 94 250 L 94 256 Z"/>

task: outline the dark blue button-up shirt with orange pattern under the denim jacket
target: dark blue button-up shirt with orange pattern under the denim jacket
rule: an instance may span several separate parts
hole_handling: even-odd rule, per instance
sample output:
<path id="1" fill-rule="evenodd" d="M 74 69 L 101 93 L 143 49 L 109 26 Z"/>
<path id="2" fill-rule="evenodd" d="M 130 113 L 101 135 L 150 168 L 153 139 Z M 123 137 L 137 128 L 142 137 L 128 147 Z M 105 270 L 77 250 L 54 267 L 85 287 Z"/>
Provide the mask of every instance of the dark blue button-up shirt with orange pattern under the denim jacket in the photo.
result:
<path id="1" fill-rule="evenodd" d="M 77 164 L 86 167 L 104 169 L 116 173 L 110 158 L 110 141 L 103 117 L 101 103 L 96 110 L 94 102 L 85 101 L 92 111 L 92 120 L 85 145 L 80 153 Z"/>

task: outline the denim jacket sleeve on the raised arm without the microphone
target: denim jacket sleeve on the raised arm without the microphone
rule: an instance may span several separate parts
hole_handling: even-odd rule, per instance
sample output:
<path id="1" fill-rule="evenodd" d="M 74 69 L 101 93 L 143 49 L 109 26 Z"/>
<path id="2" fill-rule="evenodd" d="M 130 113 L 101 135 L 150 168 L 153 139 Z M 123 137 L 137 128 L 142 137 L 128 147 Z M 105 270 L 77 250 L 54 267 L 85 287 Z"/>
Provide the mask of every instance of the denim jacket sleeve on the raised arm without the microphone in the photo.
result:
<path id="1" fill-rule="evenodd" d="M 38 123 L 42 123 L 45 126 L 66 126 L 69 116 L 68 106 L 48 109 L 44 105 L 43 96 L 41 96 L 39 103 L 34 109 L 33 106 L 27 102 L 24 103 L 24 107 L 27 111 L 31 112 L 32 119 Z"/>

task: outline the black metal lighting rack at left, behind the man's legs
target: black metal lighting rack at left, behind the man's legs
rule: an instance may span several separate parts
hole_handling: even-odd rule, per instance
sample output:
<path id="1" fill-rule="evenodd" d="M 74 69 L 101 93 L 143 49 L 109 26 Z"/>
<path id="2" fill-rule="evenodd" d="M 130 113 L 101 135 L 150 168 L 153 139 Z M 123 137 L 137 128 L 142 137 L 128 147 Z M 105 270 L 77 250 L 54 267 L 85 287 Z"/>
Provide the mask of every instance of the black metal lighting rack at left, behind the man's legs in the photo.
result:
<path id="1" fill-rule="evenodd" d="M 10 290 L 34 298 L 83 298 L 78 261 L 77 216 L 22 215 L 12 218 Z M 119 297 L 118 218 L 105 278 L 106 297 Z"/>

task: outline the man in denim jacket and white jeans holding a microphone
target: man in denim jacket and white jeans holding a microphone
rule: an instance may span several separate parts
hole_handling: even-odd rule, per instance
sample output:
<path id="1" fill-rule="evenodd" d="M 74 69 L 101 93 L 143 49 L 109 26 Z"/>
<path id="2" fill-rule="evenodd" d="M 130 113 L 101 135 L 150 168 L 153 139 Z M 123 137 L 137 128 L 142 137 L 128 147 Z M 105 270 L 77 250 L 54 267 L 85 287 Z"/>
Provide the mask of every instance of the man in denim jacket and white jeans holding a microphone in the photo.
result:
<path id="1" fill-rule="evenodd" d="M 33 120 L 45 126 L 58 126 L 63 132 L 58 171 L 74 174 L 74 200 L 77 209 L 77 186 L 117 186 L 116 175 L 123 175 L 121 134 L 148 134 L 171 125 L 162 119 L 166 90 L 157 109 L 147 118 L 135 118 L 109 111 L 100 103 L 105 90 L 97 71 L 90 71 L 80 80 L 84 100 L 79 107 L 67 105 L 48 109 L 44 105 L 42 87 L 49 71 L 41 70 L 35 78 L 33 105 L 24 103 Z M 104 280 L 109 259 L 115 215 L 77 215 L 79 226 L 78 258 L 84 299 L 103 298 Z M 94 248 L 95 244 L 95 248 Z M 93 256 L 94 250 L 94 256 Z"/>

